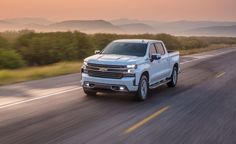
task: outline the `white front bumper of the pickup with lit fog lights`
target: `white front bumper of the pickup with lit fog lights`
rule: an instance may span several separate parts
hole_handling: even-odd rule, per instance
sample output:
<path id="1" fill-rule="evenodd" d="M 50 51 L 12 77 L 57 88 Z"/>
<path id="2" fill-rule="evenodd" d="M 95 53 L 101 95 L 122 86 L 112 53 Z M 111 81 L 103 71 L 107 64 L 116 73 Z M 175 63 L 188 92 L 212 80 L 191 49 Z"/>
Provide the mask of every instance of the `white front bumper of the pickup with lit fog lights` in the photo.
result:
<path id="1" fill-rule="evenodd" d="M 95 91 L 135 92 L 135 77 L 124 77 L 121 79 L 91 77 L 82 73 L 81 85 L 84 88 Z"/>

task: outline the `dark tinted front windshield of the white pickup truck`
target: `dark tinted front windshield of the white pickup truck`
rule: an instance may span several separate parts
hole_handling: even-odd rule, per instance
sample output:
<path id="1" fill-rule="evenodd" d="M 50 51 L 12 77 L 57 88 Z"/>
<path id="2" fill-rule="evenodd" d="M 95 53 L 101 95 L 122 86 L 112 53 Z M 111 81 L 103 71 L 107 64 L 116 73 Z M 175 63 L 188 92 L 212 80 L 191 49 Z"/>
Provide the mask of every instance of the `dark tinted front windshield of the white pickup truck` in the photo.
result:
<path id="1" fill-rule="evenodd" d="M 112 42 L 102 52 L 102 54 L 117 54 L 143 57 L 146 54 L 147 44 Z"/>

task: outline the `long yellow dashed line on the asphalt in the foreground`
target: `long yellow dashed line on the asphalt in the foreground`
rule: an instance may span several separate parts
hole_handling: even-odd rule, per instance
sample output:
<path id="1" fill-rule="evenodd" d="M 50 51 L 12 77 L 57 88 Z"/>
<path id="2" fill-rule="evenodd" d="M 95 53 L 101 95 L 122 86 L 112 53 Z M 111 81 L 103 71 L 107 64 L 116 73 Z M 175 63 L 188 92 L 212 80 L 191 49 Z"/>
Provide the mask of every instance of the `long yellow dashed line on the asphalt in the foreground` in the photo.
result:
<path id="1" fill-rule="evenodd" d="M 169 107 L 164 107 L 160 110 L 158 110 L 157 112 L 151 114 L 150 116 L 146 117 L 145 119 L 137 122 L 136 124 L 132 125 L 131 127 L 129 127 L 128 129 L 126 129 L 124 131 L 124 134 L 130 133 L 136 129 L 138 129 L 139 127 L 141 127 L 142 125 L 144 125 L 145 123 L 149 122 L 150 120 L 152 120 L 153 118 L 157 117 L 158 115 L 160 115 L 161 113 L 165 112 Z"/>

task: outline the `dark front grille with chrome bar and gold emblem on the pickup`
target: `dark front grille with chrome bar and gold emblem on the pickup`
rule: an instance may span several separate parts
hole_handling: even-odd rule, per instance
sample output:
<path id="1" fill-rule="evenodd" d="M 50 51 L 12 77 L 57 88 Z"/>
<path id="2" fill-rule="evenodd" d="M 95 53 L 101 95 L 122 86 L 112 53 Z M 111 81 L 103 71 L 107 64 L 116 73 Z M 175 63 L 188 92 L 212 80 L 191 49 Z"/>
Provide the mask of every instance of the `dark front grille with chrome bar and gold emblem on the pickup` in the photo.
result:
<path id="1" fill-rule="evenodd" d="M 86 69 L 89 76 L 111 79 L 121 79 L 124 76 L 123 73 L 127 72 L 126 66 L 92 63 L 88 63 Z"/>

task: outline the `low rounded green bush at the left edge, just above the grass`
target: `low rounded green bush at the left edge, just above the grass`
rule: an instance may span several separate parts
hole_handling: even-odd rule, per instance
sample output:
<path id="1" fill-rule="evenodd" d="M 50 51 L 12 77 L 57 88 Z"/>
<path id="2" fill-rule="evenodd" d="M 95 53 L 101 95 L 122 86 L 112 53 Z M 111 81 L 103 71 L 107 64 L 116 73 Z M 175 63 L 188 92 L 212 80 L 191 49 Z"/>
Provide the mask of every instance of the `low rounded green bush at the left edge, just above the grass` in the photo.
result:
<path id="1" fill-rule="evenodd" d="M 25 62 L 13 50 L 0 50 L 0 69 L 16 69 L 23 67 Z"/>

